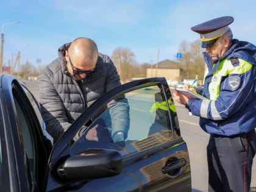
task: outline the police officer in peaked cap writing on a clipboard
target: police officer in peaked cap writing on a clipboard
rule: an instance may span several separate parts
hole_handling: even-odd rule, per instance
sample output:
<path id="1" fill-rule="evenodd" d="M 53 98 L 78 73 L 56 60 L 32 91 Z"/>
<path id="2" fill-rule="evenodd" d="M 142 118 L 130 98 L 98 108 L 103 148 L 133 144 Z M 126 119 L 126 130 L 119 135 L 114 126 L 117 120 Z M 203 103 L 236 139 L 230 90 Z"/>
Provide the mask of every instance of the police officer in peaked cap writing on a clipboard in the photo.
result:
<path id="1" fill-rule="evenodd" d="M 191 27 L 200 34 L 208 67 L 204 87 L 196 88 L 209 100 L 174 98 L 196 116 L 205 132 L 208 190 L 249 191 L 256 151 L 256 47 L 233 39 L 232 16 L 222 16 Z"/>

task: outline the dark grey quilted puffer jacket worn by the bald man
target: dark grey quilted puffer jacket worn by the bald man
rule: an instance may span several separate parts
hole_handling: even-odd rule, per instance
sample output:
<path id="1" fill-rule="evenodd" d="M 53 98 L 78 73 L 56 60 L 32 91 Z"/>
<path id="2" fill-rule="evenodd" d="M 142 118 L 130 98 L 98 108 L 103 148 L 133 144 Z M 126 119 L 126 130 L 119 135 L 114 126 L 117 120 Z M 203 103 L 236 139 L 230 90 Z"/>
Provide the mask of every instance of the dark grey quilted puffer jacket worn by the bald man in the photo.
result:
<path id="1" fill-rule="evenodd" d="M 69 45 L 59 48 L 59 58 L 46 66 L 39 76 L 41 112 L 46 130 L 54 141 L 99 96 L 121 85 L 110 57 L 99 54 L 95 73 L 82 80 L 79 87 L 66 69 L 65 51 Z"/>

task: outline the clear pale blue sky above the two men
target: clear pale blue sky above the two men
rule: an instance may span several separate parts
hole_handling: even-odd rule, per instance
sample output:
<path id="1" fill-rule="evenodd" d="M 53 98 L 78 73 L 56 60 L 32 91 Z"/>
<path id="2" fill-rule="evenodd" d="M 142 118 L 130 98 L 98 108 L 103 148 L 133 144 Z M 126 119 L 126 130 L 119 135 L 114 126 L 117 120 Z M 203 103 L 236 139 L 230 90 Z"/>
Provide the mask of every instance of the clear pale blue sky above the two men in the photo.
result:
<path id="1" fill-rule="evenodd" d="M 256 44 L 255 0 L 0 0 L 4 65 L 29 61 L 35 66 L 56 59 L 57 50 L 88 37 L 99 52 L 128 48 L 139 63 L 176 60 L 182 41 L 199 34 L 190 28 L 219 16 L 233 16 L 233 37 Z M 18 22 L 18 23 L 16 23 Z"/>

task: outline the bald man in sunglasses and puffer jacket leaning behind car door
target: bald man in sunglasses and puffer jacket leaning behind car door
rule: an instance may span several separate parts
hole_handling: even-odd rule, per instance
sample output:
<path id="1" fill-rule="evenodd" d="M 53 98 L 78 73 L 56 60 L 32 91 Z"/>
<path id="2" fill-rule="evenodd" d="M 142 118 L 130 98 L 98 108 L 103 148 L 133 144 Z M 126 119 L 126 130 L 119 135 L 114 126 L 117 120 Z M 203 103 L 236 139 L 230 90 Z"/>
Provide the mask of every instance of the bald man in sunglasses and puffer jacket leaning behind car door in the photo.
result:
<path id="1" fill-rule="evenodd" d="M 40 74 L 39 85 L 41 113 L 55 143 L 86 108 L 121 82 L 110 57 L 99 53 L 93 40 L 80 37 L 59 48 L 59 58 Z M 116 121 L 121 123 L 112 138 L 127 138 L 128 113 L 128 103 L 122 102 Z"/>

